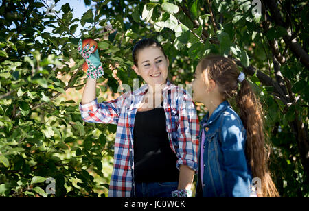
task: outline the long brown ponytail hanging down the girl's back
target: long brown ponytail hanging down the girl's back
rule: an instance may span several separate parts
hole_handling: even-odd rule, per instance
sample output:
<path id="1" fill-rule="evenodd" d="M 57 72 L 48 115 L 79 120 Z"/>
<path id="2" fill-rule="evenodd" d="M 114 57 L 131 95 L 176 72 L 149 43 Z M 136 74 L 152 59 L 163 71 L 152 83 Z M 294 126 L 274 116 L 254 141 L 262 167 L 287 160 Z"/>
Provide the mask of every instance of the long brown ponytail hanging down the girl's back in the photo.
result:
<path id="1" fill-rule="evenodd" d="M 253 177 L 261 179 L 263 197 L 279 197 L 279 193 L 268 170 L 267 149 L 265 142 L 262 105 L 255 96 L 249 82 L 240 82 L 236 95 L 236 104 L 240 110 L 240 119 L 247 130 L 246 155 Z"/>

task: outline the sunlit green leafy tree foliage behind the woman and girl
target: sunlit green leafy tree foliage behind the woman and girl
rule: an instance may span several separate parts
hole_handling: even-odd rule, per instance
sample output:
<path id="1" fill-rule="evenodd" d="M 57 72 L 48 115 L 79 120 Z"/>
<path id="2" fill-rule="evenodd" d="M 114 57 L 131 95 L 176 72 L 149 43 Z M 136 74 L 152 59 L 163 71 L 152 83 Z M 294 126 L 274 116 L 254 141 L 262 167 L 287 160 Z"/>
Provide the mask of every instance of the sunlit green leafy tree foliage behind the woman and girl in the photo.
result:
<path id="1" fill-rule="evenodd" d="M 47 14 L 44 0 L 0 1 L 0 196 L 107 195 L 116 127 L 82 121 L 86 77 L 76 47 L 80 38 L 98 41 L 105 74 L 97 94 L 104 101 L 121 94 L 120 84 L 133 88 L 131 50 L 146 37 L 163 44 L 175 84 L 189 84 L 204 55 L 233 58 L 262 101 L 279 194 L 309 196 L 307 1 L 84 4 L 89 10 L 79 19 L 73 1 L 55 14 Z M 202 105 L 197 110 L 205 114 Z M 47 193 L 49 177 L 55 194 Z"/>

